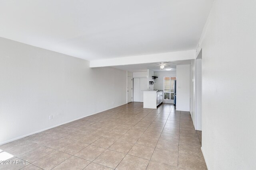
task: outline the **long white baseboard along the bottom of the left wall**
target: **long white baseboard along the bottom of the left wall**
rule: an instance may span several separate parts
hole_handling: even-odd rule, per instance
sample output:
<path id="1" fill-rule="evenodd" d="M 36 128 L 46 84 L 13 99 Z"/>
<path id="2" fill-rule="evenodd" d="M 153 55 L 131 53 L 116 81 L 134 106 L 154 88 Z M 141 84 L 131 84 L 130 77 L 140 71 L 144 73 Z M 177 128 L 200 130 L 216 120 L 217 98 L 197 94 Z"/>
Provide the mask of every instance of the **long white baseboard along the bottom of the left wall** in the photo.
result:
<path id="1" fill-rule="evenodd" d="M 126 104 L 126 103 L 124 103 L 124 104 Z M 122 105 L 124 105 L 124 104 L 120 104 L 120 105 L 115 106 L 115 107 L 119 107 L 119 106 L 122 106 Z M 39 130 L 39 131 L 35 131 L 35 132 L 32 132 L 32 133 L 28 133 L 28 134 L 26 134 L 26 135 L 22 135 L 22 136 L 20 136 L 20 137 L 16 137 L 16 138 L 10 139 L 10 140 L 8 140 L 8 141 L 4 141 L 4 142 L 0 143 L 0 145 L 4 145 L 4 144 L 6 144 L 6 143 L 9 143 L 9 142 L 12 142 L 12 141 L 16 141 L 16 140 L 18 140 L 18 139 L 22 139 L 22 138 L 24 138 L 24 137 L 27 137 L 27 136 L 30 136 L 30 135 L 34 135 L 34 134 L 36 134 L 36 133 L 40 133 L 40 132 L 42 132 L 42 131 L 46 131 L 46 130 L 48 130 L 48 129 L 52 129 L 52 128 L 57 127 L 57 126 L 64 125 L 64 124 L 66 124 L 66 123 L 69 123 L 69 122 L 72 122 L 72 121 L 76 121 L 76 120 L 82 119 L 82 118 L 84 118 L 84 117 L 88 117 L 88 116 L 91 116 L 91 115 L 95 115 L 95 114 L 100 113 L 100 112 L 102 112 L 102 111 L 106 111 L 106 110 L 109 110 L 109 109 L 113 109 L 113 108 L 115 108 L 115 107 L 110 107 L 110 108 L 108 108 L 108 109 L 104 109 L 104 110 L 101 110 L 101 111 L 97 111 L 97 112 L 95 112 L 95 113 L 92 113 L 92 114 L 90 114 L 90 115 L 86 115 L 86 116 L 83 116 L 83 117 L 79 117 L 79 118 L 77 118 L 77 119 L 72 119 L 72 120 L 70 120 L 70 121 L 66 121 L 66 122 L 64 122 L 64 123 L 60 123 L 60 124 L 58 124 L 58 125 L 54 125 L 54 126 L 51 126 L 51 127 L 45 128 L 45 129 L 41 129 L 41 130 Z"/>

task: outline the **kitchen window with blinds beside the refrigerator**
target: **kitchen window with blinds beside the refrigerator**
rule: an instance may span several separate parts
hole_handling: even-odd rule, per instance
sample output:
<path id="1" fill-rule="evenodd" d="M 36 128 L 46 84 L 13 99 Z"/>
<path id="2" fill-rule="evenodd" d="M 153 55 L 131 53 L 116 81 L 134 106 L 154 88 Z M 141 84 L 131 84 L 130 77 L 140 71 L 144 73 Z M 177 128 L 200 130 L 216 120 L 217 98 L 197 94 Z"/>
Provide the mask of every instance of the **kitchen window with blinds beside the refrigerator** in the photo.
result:
<path id="1" fill-rule="evenodd" d="M 176 77 L 164 77 L 164 99 L 174 100 L 173 85 Z"/>

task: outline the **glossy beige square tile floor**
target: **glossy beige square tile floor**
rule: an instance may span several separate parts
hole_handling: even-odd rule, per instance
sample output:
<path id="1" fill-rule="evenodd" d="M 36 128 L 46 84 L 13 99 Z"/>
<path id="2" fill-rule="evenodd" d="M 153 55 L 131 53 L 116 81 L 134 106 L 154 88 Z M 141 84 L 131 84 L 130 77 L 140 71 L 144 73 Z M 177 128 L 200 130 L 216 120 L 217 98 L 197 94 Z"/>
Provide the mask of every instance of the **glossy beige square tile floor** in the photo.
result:
<path id="1" fill-rule="evenodd" d="M 0 146 L 4 170 L 204 170 L 200 131 L 172 104 L 133 102 Z"/>

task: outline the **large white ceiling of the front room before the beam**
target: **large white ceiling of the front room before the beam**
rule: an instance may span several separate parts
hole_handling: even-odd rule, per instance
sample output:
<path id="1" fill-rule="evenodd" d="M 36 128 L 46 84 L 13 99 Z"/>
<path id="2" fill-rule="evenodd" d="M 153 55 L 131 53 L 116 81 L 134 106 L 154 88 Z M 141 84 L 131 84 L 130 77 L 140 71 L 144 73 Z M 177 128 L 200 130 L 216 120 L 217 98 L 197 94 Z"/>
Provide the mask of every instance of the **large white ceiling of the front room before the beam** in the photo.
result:
<path id="1" fill-rule="evenodd" d="M 87 60 L 196 49 L 213 0 L 1 0 L 0 37 Z"/>

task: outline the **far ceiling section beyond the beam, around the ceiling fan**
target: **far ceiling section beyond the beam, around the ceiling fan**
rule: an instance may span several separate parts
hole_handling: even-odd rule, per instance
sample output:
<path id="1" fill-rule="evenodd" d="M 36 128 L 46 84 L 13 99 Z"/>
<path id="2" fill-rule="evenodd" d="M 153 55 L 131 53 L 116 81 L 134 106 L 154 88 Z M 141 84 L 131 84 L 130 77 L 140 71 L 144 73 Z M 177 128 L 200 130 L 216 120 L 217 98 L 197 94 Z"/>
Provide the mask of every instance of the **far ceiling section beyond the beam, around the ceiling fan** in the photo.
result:
<path id="1" fill-rule="evenodd" d="M 120 65 L 120 66 L 112 66 L 114 68 L 118 68 L 121 70 L 127 70 L 130 72 L 145 72 L 147 69 L 153 71 L 166 71 L 165 68 L 172 68 L 170 71 L 176 71 L 176 65 L 181 64 L 191 64 L 192 60 L 181 60 L 181 61 L 172 61 L 172 62 L 161 62 L 165 64 L 164 69 L 160 69 L 161 63 L 144 63 L 144 64 L 130 64 L 130 65 Z"/>

